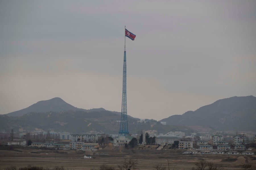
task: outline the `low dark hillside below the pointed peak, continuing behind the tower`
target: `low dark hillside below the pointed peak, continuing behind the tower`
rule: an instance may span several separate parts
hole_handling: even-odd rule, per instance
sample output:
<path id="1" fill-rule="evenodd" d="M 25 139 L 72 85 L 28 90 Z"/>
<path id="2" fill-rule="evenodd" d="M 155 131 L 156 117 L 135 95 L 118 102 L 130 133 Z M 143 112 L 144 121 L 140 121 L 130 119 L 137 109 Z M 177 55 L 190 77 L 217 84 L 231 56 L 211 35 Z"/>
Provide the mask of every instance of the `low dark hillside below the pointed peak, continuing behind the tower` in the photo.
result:
<path id="1" fill-rule="evenodd" d="M 137 123 L 137 118 L 127 116 L 129 132 L 140 133 L 142 130 L 154 131 L 156 134 L 169 131 L 183 131 L 186 134 L 194 132 L 191 128 L 179 125 L 161 125 L 150 123 Z M 15 132 L 48 131 L 70 133 L 108 133 L 118 134 L 120 114 L 111 111 L 62 111 L 62 112 L 31 112 L 22 116 L 13 117 L 0 115 L 0 131 Z"/>

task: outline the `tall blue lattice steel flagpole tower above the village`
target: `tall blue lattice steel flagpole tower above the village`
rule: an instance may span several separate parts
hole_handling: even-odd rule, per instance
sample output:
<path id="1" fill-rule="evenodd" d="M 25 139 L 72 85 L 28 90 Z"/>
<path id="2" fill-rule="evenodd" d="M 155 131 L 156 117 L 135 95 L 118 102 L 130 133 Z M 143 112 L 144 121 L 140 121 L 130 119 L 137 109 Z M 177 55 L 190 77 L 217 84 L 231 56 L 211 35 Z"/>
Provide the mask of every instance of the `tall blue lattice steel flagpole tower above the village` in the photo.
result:
<path id="1" fill-rule="evenodd" d="M 127 122 L 127 101 L 126 101 L 126 49 L 124 46 L 123 52 L 123 95 L 122 95 L 122 110 L 121 123 L 118 136 L 129 136 L 128 122 Z"/>

